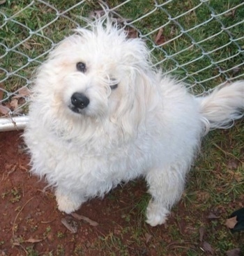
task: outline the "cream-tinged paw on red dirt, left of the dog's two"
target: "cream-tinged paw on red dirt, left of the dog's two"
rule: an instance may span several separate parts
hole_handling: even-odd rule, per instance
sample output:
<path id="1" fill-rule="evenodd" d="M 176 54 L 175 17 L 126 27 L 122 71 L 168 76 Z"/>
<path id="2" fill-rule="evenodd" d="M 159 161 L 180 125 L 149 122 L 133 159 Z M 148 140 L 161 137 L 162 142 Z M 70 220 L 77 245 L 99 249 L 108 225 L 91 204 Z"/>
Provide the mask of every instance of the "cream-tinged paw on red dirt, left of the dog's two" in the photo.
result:
<path id="1" fill-rule="evenodd" d="M 58 204 L 59 211 L 64 211 L 68 214 L 79 209 L 79 206 L 81 205 L 80 202 L 76 202 L 66 195 L 56 195 L 56 202 Z"/>

